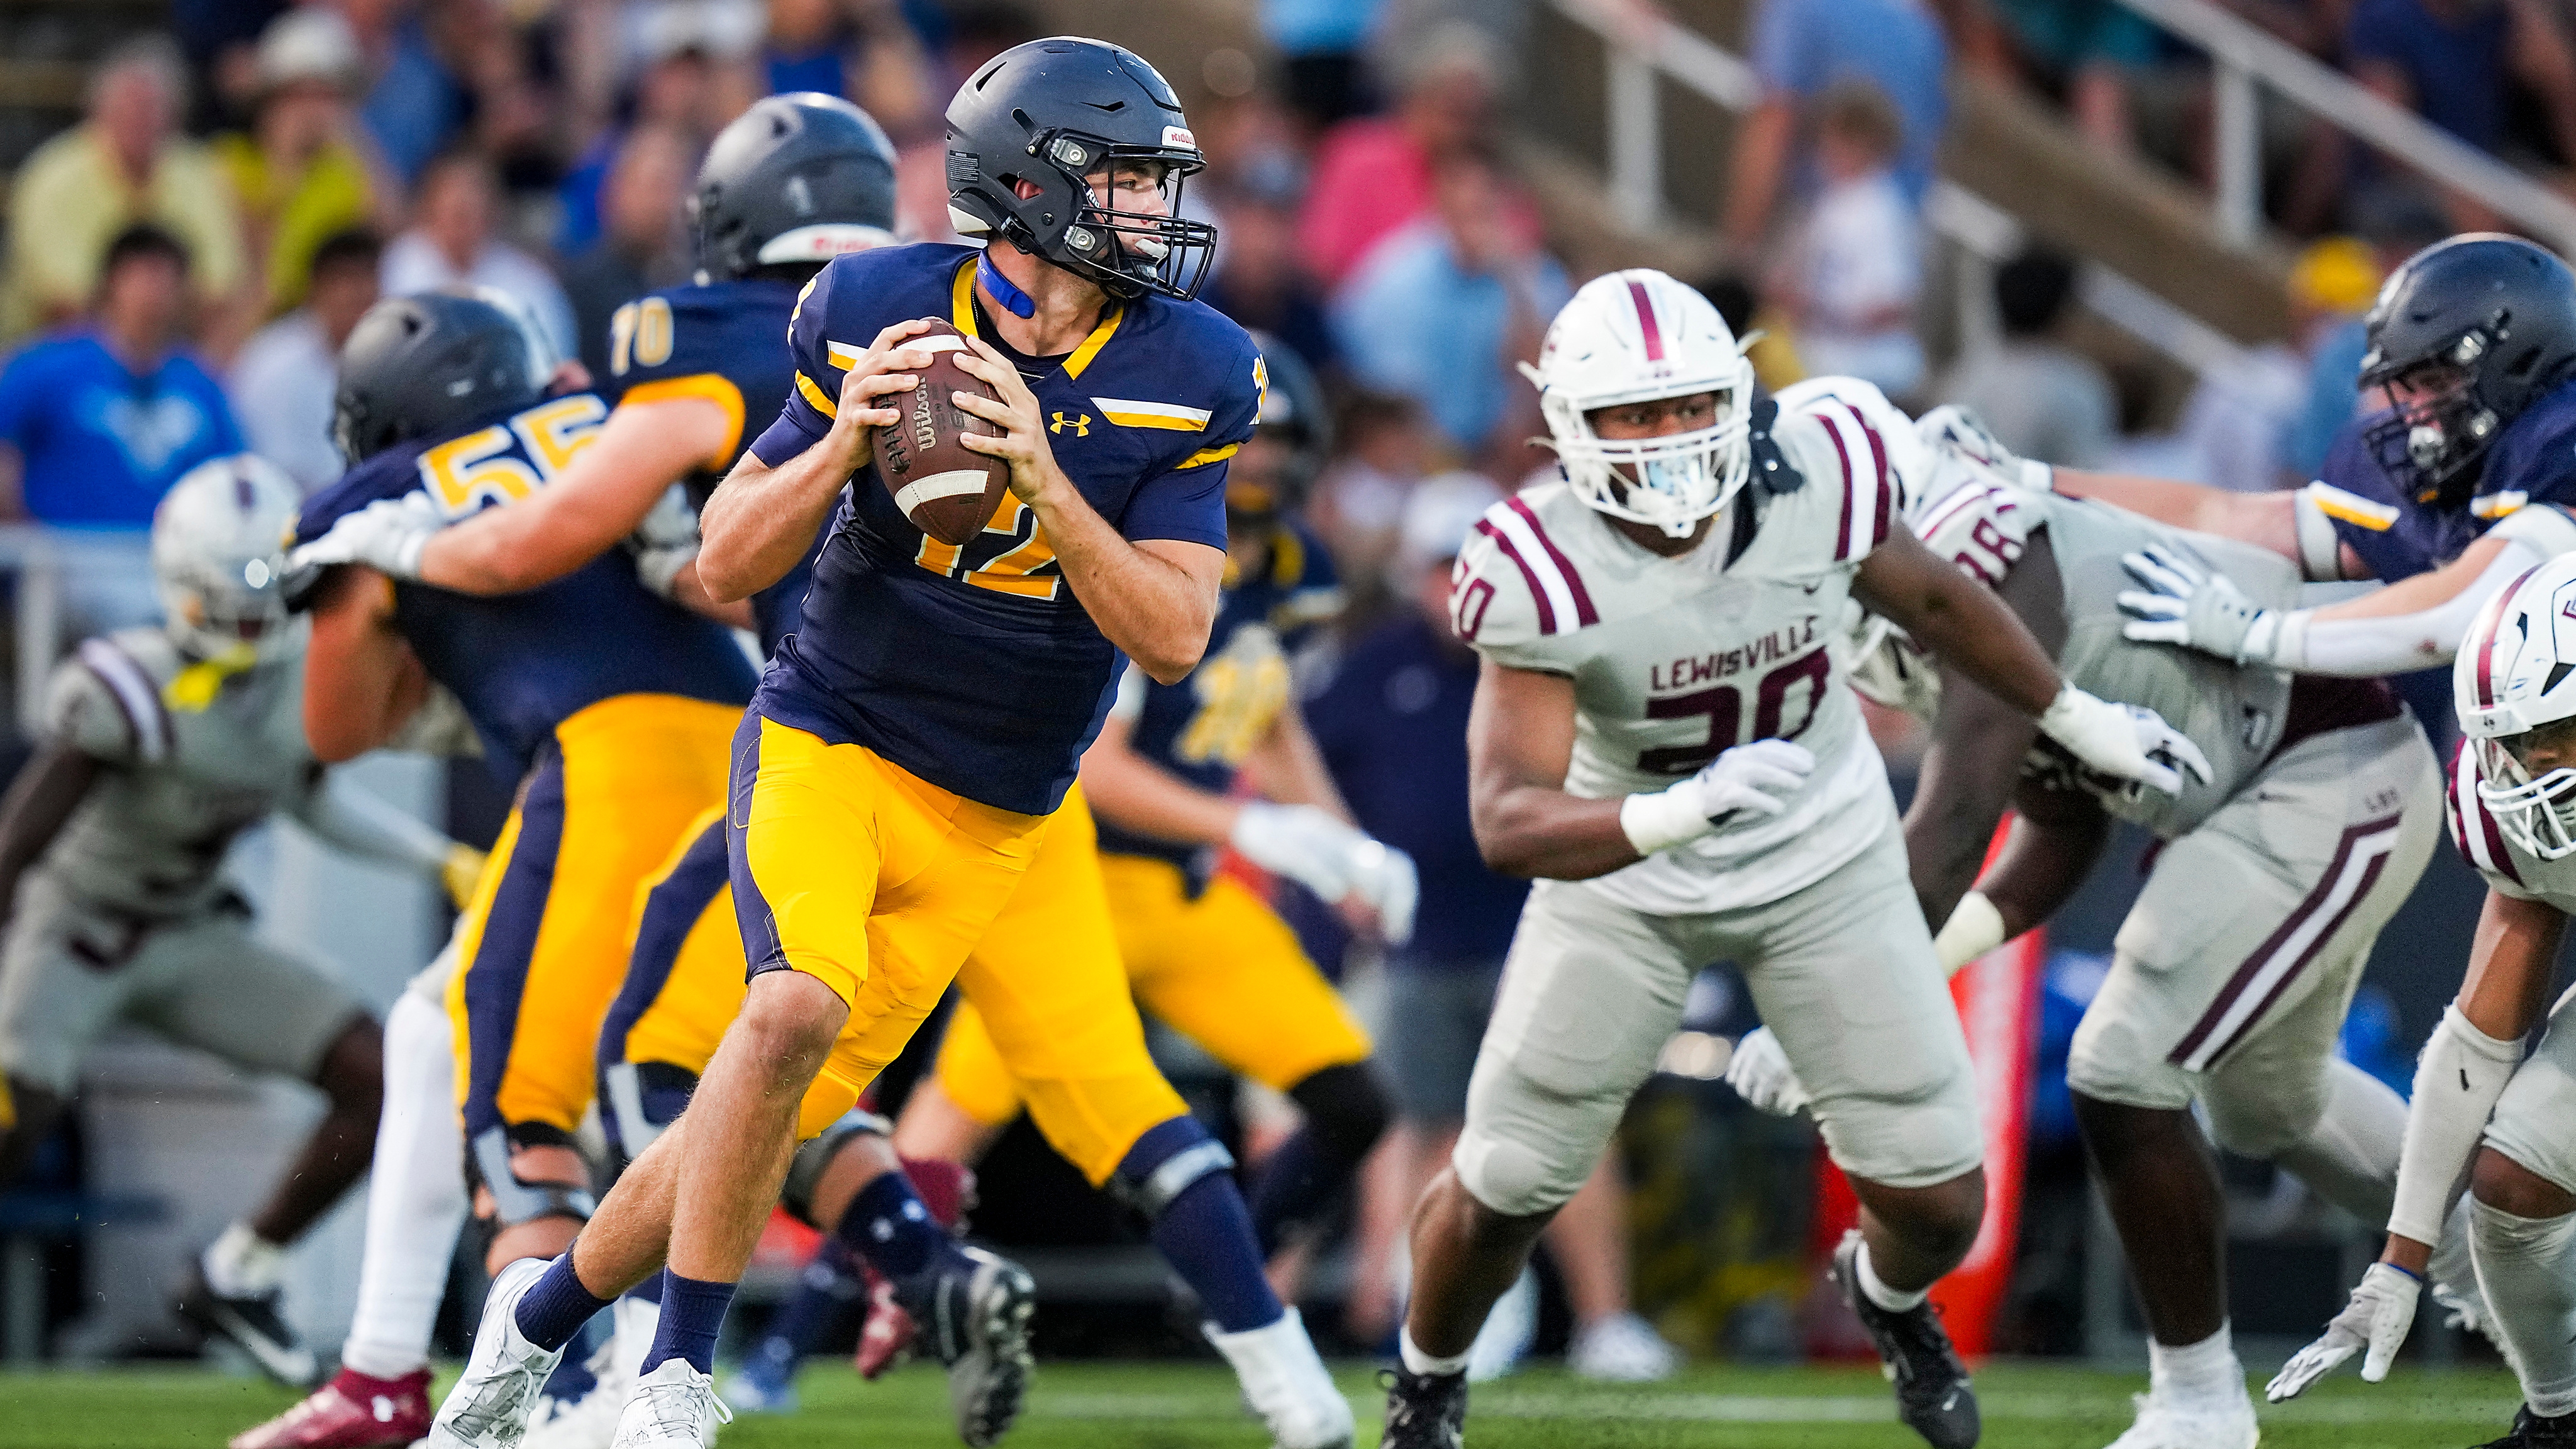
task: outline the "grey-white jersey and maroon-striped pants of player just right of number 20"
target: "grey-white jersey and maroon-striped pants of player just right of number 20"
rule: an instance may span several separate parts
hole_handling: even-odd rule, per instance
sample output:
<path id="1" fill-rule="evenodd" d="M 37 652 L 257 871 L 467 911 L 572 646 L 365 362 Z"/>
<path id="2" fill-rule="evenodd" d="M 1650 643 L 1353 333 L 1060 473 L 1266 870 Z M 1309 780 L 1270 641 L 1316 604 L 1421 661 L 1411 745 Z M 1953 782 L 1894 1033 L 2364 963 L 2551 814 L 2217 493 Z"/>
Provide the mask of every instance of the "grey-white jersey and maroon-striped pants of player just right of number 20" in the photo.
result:
<path id="1" fill-rule="evenodd" d="M 2432 859 L 2432 745 L 2378 681 L 2293 681 L 2123 637 L 2120 559 L 2179 549 L 2287 606 L 2287 559 L 2074 498 L 1965 480 L 1917 513 L 1924 547 L 1999 580 L 2048 531 L 2076 688 L 2159 712 L 2210 761 L 2182 794 L 2105 789 L 2053 750 L 2027 776 L 2084 789 L 2166 843 L 2120 923 L 2066 1080 L 2097 1101 L 2208 1104 L 2231 1150 L 2269 1158 L 2326 1109 L 2326 1065 L 2370 946 Z M 2226 902 L 2213 910 L 2210 902 Z"/>

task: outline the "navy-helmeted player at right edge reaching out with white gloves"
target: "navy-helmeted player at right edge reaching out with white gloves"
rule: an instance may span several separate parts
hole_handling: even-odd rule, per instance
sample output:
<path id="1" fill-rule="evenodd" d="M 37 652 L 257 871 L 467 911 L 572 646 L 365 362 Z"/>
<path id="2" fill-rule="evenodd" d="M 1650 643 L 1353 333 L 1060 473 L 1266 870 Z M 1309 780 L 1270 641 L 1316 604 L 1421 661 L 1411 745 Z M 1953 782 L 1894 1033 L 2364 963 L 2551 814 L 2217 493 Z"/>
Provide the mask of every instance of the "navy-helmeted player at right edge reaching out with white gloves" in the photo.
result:
<path id="1" fill-rule="evenodd" d="M 2130 639 L 2306 676 L 2442 665 L 2499 588 L 2576 549 L 2576 273 L 2519 237 L 2450 237 L 2388 276 L 2367 338 L 2362 389 L 2385 407 L 2354 418 L 2295 492 L 2050 469 L 1986 436 L 1950 446 L 2027 487 L 2259 544 L 2311 580 L 2388 585 L 2264 608 L 2226 575 L 2141 554 Z"/>

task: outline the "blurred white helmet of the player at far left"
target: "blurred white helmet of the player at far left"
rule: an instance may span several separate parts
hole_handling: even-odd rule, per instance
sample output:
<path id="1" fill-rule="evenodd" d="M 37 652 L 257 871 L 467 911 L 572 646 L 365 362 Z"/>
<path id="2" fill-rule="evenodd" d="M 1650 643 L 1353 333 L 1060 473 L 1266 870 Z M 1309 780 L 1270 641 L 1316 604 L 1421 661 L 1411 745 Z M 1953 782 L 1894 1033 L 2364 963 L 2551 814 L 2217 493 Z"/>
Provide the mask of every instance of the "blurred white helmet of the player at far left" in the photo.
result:
<path id="1" fill-rule="evenodd" d="M 258 454 L 188 469 L 152 513 L 152 580 L 193 657 L 240 660 L 286 637 L 286 534 L 304 498 Z"/>

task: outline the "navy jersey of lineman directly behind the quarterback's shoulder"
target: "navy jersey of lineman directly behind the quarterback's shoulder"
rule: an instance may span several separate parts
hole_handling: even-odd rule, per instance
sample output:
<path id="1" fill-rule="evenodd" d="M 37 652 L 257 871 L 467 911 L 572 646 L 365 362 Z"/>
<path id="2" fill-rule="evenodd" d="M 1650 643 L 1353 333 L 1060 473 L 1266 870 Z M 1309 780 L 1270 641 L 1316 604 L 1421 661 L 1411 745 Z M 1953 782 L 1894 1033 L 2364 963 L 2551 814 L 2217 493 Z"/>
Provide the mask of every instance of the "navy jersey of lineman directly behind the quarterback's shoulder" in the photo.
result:
<path id="1" fill-rule="evenodd" d="M 629 397 L 706 397 L 734 423 L 724 446 L 685 480 L 701 508 L 752 438 L 778 420 L 778 407 L 796 387 L 796 364 L 786 348 L 793 315 L 793 284 L 750 278 L 652 291 L 608 320 L 608 376 L 600 394 L 611 405 Z M 786 578 L 752 596 L 752 629 L 760 632 L 762 655 L 796 632 L 796 606 L 814 578 L 817 549 L 819 534 Z"/>

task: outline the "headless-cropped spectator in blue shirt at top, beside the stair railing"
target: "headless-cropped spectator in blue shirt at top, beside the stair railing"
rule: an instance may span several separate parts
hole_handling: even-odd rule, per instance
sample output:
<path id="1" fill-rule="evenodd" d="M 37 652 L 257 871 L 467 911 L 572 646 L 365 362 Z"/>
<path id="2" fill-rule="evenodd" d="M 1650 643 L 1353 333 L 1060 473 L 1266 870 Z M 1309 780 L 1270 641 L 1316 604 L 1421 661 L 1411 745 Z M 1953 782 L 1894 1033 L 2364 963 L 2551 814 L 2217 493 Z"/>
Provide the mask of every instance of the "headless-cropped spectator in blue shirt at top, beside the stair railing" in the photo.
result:
<path id="1" fill-rule="evenodd" d="M 1837 80 L 1870 80 L 1896 103 L 1896 180 L 1922 206 L 1950 116 L 1942 88 L 1950 52 L 1919 0 L 1762 0 L 1752 49 L 1762 103 L 1736 131 L 1728 242 L 1752 253 L 1770 232 L 1783 191 L 1814 186 L 1801 126 L 1814 121 L 1806 111 Z"/>

